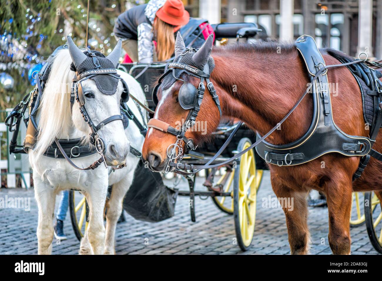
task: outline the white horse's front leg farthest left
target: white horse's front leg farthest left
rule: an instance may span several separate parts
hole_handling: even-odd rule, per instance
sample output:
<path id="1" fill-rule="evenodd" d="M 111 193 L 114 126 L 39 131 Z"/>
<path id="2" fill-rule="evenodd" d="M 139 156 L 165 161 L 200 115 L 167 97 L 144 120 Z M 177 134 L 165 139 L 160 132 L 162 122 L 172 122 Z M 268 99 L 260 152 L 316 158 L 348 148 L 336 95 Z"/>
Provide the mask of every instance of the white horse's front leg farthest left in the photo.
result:
<path id="1" fill-rule="evenodd" d="M 39 255 L 52 253 L 53 241 L 53 213 L 56 201 L 55 188 L 46 184 L 40 176 L 34 174 L 34 196 L 39 208 L 39 221 L 37 225 L 37 241 Z"/>

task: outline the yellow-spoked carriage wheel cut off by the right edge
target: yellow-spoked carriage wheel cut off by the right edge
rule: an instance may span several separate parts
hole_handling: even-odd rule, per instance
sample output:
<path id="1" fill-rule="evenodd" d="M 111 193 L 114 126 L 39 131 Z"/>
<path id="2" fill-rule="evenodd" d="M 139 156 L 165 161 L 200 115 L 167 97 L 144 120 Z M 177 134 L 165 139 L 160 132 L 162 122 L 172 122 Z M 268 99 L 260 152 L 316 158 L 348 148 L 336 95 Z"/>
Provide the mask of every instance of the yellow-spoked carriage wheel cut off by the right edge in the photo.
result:
<path id="1" fill-rule="evenodd" d="M 382 205 L 374 192 L 365 193 L 365 219 L 367 234 L 374 249 L 382 253 Z"/>

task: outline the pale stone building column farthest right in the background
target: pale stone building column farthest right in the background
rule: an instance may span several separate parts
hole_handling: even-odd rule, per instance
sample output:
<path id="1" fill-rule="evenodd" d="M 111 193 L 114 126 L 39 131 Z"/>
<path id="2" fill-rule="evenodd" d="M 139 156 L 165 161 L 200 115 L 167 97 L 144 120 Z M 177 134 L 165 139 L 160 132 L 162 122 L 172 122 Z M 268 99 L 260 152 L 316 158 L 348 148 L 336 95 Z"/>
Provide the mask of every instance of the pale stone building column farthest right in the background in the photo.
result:
<path id="1" fill-rule="evenodd" d="M 358 48 L 357 52 L 367 53 L 369 57 L 373 56 L 372 50 L 372 0 L 359 0 L 358 2 Z M 356 54 L 356 55 L 358 55 Z M 361 56 L 361 58 L 363 58 Z"/>

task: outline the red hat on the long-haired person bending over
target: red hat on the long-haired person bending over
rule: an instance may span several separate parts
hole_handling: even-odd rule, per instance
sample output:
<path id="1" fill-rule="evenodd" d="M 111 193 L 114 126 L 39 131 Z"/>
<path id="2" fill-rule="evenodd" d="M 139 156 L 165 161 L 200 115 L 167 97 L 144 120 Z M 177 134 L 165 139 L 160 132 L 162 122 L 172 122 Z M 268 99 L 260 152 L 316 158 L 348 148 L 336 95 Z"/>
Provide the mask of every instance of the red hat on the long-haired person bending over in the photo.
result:
<path id="1" fill-rule="evenodd" d="M 157 11 L 156 15 L 165 23 L 175 26 L 185 25 L 190 19 L 190 15 L 185 10 L 181 0 L 167 0 L 163 7 Z"/>

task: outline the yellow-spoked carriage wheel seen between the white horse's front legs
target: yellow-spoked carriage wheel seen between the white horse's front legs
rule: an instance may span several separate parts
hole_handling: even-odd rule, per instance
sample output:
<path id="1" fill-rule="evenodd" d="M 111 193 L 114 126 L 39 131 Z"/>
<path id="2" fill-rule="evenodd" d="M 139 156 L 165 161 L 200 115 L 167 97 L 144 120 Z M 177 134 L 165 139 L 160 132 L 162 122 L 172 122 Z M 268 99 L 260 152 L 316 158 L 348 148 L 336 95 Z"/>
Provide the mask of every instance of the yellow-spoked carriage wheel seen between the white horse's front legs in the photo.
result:
<path id="1" fill-rule="evenodd" d="M 69 191 L 69 210 L 74 234 L 81 240 L 89 223 L 89 205 L 85 196 L 79 191 Z"/>

